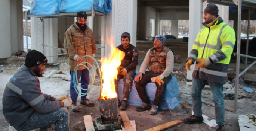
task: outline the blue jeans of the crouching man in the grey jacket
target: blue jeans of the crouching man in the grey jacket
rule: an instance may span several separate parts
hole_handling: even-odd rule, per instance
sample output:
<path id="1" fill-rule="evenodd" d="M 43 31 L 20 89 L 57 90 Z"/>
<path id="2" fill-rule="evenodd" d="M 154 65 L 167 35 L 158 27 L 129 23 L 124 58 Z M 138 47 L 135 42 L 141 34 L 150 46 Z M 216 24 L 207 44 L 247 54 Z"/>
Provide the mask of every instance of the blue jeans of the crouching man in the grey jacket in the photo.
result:
<path id="1" fill-rule="evenodd" d="M 68 131 L 69 112 L 67 108 L 60 108 L 49 113 L 32 112 L 28 120 L 14 127 L 18 131 L 27 131 L 37 128 L 46 129 L 55 124 L 55 131 Z"/>

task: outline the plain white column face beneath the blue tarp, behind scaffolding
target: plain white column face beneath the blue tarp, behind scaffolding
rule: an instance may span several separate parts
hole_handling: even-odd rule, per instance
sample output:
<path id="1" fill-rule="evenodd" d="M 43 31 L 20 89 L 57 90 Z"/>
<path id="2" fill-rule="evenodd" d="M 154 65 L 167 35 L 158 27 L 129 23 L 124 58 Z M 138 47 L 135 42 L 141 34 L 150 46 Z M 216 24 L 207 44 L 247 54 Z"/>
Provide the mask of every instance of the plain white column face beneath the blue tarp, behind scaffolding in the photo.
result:
<path id="1" fill-rule="evenodd" d="M 48 59 L 48 63 L 54 63 L 58 56 L 48 57 L 58 54 L 58 49 L 52 47 L 58 47 L 58 18 L 44 19 L 44 44 L 51 47 L 44 47 L 45 55 Z"/>

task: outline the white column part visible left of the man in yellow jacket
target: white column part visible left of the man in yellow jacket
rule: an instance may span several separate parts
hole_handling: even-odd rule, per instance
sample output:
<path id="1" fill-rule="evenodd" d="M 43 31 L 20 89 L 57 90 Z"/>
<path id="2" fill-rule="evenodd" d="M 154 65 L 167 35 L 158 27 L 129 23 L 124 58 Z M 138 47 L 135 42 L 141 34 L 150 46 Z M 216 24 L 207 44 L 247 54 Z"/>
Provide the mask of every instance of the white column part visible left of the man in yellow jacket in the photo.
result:
<path id="1" fill-rule="evenodd" d="M 193 43 L 200 31 L 200 0 L 189 0 L 189 39 L 188 39 L 188 55 L 192 49 Z M 192 72 L 195 64 L 191 65 L 191 71 L 187 72 L 187 79 L 192 80 Z"/>

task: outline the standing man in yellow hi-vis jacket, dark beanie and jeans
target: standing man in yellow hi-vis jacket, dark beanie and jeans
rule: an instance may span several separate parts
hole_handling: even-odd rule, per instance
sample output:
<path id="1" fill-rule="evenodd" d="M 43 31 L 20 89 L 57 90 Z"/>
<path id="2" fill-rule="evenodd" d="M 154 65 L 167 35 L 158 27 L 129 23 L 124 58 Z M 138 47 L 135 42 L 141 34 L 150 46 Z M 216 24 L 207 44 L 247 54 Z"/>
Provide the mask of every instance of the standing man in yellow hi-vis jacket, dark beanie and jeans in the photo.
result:
<path id="1" fill-rule="evenodd" d="M 223 84 L 226 83 L 228 65 L 235 44 L 235 32 L 218 15 L 218 7 L 210 3 L 204 10 L 204 27 L 200 30 L 186 60 L 186 69 L 196 61 L 192 74 L 191 96 L 194 115 L 183 121 L 186 124 L 203 122 L 201 92 L 206 83 L 213 93 L 218 128 L 224 131 L 225 104 Z"/>

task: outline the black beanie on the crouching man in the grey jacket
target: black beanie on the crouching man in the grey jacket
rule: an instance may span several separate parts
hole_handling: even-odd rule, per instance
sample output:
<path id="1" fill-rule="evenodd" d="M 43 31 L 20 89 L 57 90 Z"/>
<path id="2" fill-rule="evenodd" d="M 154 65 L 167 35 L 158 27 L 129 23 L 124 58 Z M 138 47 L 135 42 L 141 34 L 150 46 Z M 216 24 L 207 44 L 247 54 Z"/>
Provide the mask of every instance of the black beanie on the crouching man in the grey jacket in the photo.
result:
<path id="1" fill-rule="evenodd" d="M 25 65 L 27 67 L 34 67 L 40 65 L 41 63 L 47 63 L 47 61 L 48 60 L 46 59 L 46 56 L 44 56 L 43 53 L 36 50 L 32 50 L 28 52 L 28 54 L 26 55 Z"/>

